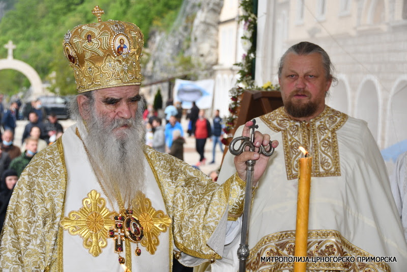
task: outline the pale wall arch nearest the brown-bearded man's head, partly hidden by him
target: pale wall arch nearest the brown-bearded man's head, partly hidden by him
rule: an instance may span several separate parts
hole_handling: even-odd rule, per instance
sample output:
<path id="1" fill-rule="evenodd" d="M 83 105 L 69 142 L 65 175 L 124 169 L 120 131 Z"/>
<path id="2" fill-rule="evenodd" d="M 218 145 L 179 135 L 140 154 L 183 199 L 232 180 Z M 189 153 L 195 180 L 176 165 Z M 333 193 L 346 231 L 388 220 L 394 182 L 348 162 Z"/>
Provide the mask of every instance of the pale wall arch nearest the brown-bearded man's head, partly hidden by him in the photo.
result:
<path id="1" fill-rule="evenodd" d="M 337 78 L 338 83 L 336 86 L 331 85 L 328 97 L 326 98 L 326 103 L 328 106 L 335 108 L 335 110 L 351 115 L 351 87 L 346 75 L 339 74 Z"/>

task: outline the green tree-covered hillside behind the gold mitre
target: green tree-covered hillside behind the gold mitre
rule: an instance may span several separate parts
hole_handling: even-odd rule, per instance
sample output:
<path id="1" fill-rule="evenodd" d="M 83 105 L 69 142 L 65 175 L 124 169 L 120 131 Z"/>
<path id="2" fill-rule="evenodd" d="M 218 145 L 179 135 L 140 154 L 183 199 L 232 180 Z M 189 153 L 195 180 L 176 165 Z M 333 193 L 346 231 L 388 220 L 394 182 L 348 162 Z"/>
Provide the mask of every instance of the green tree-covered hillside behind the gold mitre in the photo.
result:
<path id="1" fill-rule="evenodd" d="M 7 49 L 3 45 L 12 40 L 17 46 L 13 53 L 14 59 L 31 65 L 43 81 L 50 81 L 51 91 L 63 95 L 76 93 L 73 72 L 63 53 L 64 35 L 76 25 L 95 22 L 96 17 L 91 13 L 94 5 L 99 5 L 105 11 L 102 20 L 123 20 L 137 24 L 147 41 L 152 28 L 170 28 L 183 0 L 99 0 L 96 4 L 91 0 L 6 2 L 7 12 L 0 20 L 0 59 L 7 57 Z M 0 82 L 8 81 L 3 86 L 10 86 L 7 92 L 18 92 L 26 87 L 28 80 L 22 79 L 24 75 L 1 71 Z M 56 76 L 49 78 L 53 71 Z"/>

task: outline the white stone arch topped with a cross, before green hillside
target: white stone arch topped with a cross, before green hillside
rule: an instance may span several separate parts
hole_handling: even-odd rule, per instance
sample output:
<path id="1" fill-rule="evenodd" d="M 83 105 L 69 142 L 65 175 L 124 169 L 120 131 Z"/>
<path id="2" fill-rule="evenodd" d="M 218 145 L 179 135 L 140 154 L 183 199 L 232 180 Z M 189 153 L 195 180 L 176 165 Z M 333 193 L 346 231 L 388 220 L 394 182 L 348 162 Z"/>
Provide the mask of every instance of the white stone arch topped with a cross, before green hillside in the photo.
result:
<path id="1" fill-rule="evenodd" d="M 0 60 L 0 70 L 11 69 L 22 73 L 28 78 L 28 81 L 30 81 L 31 87 L 33 89 L 32 96 L 38 97 L 40 95 L 43 95 L 44 91 L 42 88 L 42 81 L 37 71 L 25 62 L 15 60 L 13 58 L 13 49 L 15 49 L 16 46 L 13 44 L 12 41 L 9 41 L 9 43 L 5 45 L 5 47 L 8 49 L 8 56 L 7 59 Z"/>

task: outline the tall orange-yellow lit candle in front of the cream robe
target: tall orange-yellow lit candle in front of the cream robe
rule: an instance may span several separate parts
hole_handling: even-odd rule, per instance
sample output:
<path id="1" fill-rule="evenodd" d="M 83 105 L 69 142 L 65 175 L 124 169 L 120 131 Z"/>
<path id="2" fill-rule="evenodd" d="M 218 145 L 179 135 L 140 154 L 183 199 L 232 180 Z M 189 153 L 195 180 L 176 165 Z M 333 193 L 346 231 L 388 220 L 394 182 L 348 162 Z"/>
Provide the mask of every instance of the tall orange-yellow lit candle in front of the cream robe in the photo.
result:
<path id="1" fill-rule="evenodd" d="M 295 256 L 307 256 L 308 242 L 308 211 L 309 211 L 309 192 L 311 188 L 311 169 L 312 157 L 307 157 L 308 152 L 300 146 L 305 157 L 300 158 L 299 180 L 298 180 L 298 199 L 297 199 L 297 223 L 296 223 L 296 248 Z M 305 272 L 306 262 L 295 262 L 294 272 Z"/>

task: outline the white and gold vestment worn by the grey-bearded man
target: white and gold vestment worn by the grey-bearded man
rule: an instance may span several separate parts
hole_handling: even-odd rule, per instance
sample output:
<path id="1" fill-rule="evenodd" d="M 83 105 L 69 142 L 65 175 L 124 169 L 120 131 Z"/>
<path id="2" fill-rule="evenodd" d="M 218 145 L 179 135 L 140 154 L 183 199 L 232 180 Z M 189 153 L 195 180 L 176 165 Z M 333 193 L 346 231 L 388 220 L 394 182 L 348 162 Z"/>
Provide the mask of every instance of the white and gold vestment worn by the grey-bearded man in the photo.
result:
<path id="1" fill-rule="evenodd" d="M 2 271 L 123 271 L 114 240 L 107 237 L 117 211 L 79 136 L 70 127 L 18 180 L 0 245 Z M 123 243 L 128 268 L 169 271 L 174 250 L 189 266 L 219 259 L 228 219 L 242 211 L 244 182 L 235 174 L 219 186 L 185 162 L 144 148 L 146 189 L 131 207 L 144 236 L 140 256 L 135 243 Z"/>

